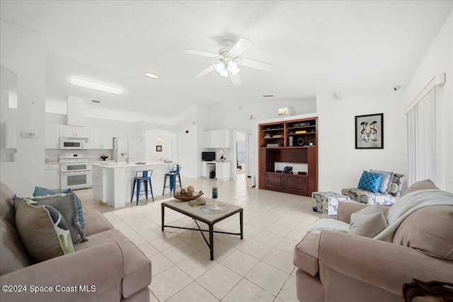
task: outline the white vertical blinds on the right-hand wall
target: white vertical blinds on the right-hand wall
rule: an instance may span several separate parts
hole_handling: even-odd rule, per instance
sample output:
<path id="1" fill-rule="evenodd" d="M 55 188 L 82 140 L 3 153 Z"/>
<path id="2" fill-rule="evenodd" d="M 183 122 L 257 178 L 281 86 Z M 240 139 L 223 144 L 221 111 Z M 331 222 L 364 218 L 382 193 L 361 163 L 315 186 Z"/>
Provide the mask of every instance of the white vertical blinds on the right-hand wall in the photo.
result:
<path id="1" fill-rule="evenodd" d="M 430 178 L 436 183 L 437 123 L 435 88 L 407 113 L 408 185 Z"/>

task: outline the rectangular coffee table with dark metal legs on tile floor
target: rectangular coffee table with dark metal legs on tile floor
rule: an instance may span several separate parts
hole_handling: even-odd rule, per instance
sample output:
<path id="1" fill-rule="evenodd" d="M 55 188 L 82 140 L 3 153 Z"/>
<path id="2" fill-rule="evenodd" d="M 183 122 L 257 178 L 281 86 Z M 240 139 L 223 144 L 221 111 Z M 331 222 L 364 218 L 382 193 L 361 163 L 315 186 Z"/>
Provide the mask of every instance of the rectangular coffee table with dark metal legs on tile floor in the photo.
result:
<path id="1" fill-rule="evenodd" d="M 162 202 L 162 204 L 161 204 L 162 231 L 164 231 L 165 227 L 167 227 L 167 228 L 183 228 L 185 230 L 200 231 L 203 238 L 205 238 L 205 242 L 206 242 L 207 246 L 210 248 L 211 260 L 214 260 L 214 233 L 238 235 L 238 236 L 241 236 L 241 239 L 243 239 L 243 209 L 241 207 L 236 207 L 232 204 L 226 204 L 224 202 L 217 202 L 217 205 L 219 206 L 220 209 L 217 211 L 212 211 L 210 209 L 211 204 L 212 204 L 212 199 L 209 199 L 209 198 L 203 198 L 203 199 L 206 200 L 206 204 L 202 205 L 202 206 L 197 206 L 197 207 L 190 207 L 188 205 L 188 202 L 183 202 L 178 199 L 169 200 L 168 202 Z M 166 226 L 165 221 L 164 221 L 165 208 L 172 209 L 173 211 L 178 211 L 179 213 L 184 214 L 185 216 L 189 216 L 190 218 L 194 219 L 198 228 L 184 228 L 181 226 Z M 222 221 L 236 213 L 239 213 L 239 225 L 241 226 L 241 233 L 229 233 L 229 232 L 222 232 L 222 231 L 214 231 L 215 223 Z M 209 227 L 209 229 L 202 230 L 202 228 L 200 228 L 200 225 L 198 224 L 197 221 L 206 223 L 207 226 Z M 210 234 L 209 242 L 207 242 L 207 239 L 203 232 L 209 232 L 209 234 Z"/>

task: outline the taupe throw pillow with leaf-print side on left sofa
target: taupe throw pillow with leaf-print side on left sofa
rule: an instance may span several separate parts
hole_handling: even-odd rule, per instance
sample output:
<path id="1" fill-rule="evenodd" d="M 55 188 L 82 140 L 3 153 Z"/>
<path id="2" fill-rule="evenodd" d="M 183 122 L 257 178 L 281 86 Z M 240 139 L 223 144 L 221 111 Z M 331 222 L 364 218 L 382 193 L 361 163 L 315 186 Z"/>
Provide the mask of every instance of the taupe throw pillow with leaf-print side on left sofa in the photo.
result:
<path id="1" fill-rule="evenodd" d="M 54 207 L 35 207 L 25 199 L 16 211 L 16 226 L 28 255 L 37 262 L 74 252 L 66 220 Z"/>

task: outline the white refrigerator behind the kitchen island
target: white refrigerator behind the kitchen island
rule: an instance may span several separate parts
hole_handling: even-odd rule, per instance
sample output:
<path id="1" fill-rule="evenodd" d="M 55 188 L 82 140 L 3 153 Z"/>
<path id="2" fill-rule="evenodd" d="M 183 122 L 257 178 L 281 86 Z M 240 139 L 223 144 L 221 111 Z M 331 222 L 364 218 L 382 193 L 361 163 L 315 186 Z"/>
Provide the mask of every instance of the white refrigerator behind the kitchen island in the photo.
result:
<path id="1" fill-rule="evenodd" d="M 130 157 L 130 163 L 145 161 L 144 139 L 115 137 L 113 139 L 112 159 L 117 163 L 125 162 Z"/>

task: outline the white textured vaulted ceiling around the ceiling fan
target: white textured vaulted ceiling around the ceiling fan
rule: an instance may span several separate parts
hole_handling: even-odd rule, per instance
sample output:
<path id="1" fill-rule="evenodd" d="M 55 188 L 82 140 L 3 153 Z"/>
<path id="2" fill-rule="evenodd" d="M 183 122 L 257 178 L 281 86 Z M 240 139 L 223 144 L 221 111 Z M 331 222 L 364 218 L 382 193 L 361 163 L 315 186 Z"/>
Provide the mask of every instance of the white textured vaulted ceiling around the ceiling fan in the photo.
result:
<path id="1" fill-rule="evenodd" d="M 74 95 L 100 115 L 155 121 L 196 104 L 405 86 L 452 9 L 453 1 L 1 1 L 1 19 L 47 36 L 47 102 Z M 217 53 L 240 37 L 253 42 L 241 57 L 272 71 L 243 66 L 239 86 L 215 71 L 195 79 L 216 59 L 184 50 Z M 72 86 L 71 76 L 125 92 Z"/>

